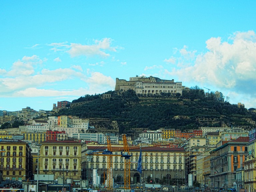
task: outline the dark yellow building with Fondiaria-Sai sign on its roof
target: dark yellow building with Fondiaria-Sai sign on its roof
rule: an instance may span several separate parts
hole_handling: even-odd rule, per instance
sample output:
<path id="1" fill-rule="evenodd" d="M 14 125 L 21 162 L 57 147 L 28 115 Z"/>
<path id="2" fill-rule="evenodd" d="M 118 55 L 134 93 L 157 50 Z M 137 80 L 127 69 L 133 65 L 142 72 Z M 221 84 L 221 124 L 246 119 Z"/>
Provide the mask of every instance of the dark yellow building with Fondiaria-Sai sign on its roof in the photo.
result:
<path id="1" fill-rule="evenodd" d="M 32 158 L 29 145 L 19 140 L 0 139 L 0 146 L 0 171 L 3 180 L 21 181 L 31 178 Z"/>

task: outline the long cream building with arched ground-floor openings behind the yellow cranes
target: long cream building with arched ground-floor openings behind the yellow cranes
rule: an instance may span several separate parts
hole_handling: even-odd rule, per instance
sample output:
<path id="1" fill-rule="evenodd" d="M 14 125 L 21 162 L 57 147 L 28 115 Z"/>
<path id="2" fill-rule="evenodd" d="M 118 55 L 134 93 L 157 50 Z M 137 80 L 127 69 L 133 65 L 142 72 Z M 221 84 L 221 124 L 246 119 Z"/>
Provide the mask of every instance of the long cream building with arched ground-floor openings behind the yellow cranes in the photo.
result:
<path id="1" fill-rule="evenodd" d="M 118 145 L 112 145 L 112 149 Z M 122 148 L 122 145 L 119 145 Z M 82 146 L 82 165 L 83 173 L 87 173 L 89 183 L 92 180 L 92 170 L 97 169 L 98 175 L 101 179 L 107 178 L 107 156 L 102 155 L 89 155 L 86 158 L 85 153 L 90 151 L 104 151 L 106 146 L 98 145 L 98 150 L 95 145 Z M 142 182 L 146 181 L 148 176 L 154 178 L 154 183 L 160 182 L 164 179 L 164 184 L 169 180 L 176 178 L 180 183 L 185 184 L 185 150 L 184 148 L 171 148 L 171 147 L 146 147 L 142 148 Z M 137 171 L 137 163 L 139 159 L 140 149 L 130 149 L 130 181 L 131 184 L 139 182 L 139 173 Z M 113 177 L 115 178 L 124 176 L 124 162 L 120 151 L 113 152 Z M 87 160 L 87 161 L 86 161 Z M 101 180 L 102 181 L 102 180 Z M 170 182 L 170 181 L 169 181 Z"/>

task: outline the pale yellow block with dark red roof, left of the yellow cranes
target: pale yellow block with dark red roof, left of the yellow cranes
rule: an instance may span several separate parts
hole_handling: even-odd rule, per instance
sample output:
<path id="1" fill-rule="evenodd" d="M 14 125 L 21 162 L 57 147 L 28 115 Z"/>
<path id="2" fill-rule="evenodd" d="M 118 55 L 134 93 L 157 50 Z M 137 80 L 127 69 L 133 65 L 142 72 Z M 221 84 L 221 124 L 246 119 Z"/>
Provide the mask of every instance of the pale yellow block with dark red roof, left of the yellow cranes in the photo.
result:
<path id="1" fill-rule="evenodd" d="M 81 178 L 81 143 L 77 141 L 45 141 L 40 148 L 40 174 L 53 174 L 54 179 L 64 174 L 72 181 Z"/>

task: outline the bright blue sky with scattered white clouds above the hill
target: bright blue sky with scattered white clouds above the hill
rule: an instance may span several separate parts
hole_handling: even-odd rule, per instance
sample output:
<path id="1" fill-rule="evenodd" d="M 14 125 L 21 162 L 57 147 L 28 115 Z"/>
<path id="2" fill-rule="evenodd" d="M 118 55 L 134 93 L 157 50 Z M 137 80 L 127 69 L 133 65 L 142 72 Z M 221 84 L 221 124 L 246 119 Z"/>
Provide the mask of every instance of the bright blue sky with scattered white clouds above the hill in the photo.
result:
<path id="1" fill-rule="evenodd" d="M 1 1 L 0 110 L 51 110 L 136 75 L 256 108 L 256 1 Z M 204 89 L 207 92 L 207 89 Z"/>

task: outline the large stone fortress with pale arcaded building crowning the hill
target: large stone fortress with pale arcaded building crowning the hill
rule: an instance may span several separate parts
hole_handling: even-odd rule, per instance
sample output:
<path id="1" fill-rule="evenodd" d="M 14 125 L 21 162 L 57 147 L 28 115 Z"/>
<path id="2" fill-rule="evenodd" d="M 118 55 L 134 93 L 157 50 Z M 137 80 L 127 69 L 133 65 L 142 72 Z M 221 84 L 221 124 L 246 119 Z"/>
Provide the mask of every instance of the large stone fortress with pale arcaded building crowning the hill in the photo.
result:
<path id="1" fill-rule="evenodd" d="M 185 86 L 182 86 L 182 82 L 174 82 L 172 80 L 163 80 L 158 77 L 130 77 L 129 81 L 125 79 L 116 78 L 115 91 L 124 92 L 127 90 L 134 90 L 136 94 L 161 94 L 161 93 L 180 93 L 182 95 L 182 90 Z"/>

